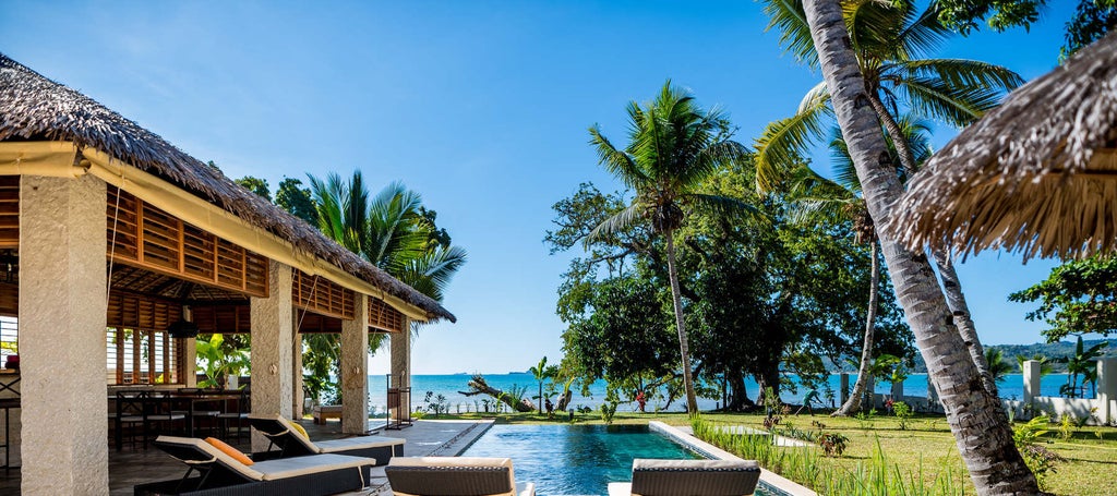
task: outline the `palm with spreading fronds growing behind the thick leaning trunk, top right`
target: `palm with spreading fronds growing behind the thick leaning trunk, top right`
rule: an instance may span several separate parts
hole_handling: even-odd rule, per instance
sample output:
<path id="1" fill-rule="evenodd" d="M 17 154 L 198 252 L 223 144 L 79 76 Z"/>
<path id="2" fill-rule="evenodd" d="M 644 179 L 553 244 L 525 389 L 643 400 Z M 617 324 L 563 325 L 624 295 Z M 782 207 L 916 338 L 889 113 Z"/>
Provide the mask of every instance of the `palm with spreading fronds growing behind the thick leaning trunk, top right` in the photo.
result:
<path id="1" fill-rule="evenodd" d="M 963 127 L 995 107 L 1005 90 L 1022 83 L 1019 75 L 996 65 L 924 57 L 951 34 L 938 21 L 938 8 L 934 3 L 922 13 L 910 0 L 857 0 L 844 2 L 843 9 L 858 66 L 869 89 L 863 94 L 865 102 L 880 120 L 907 174 L 914 173 L 919 162 L 894 117 L 901 103 L 918 116 Z M 818 54 L 810 42 L 802 2 L 770 0 L 765 11 L 772 17 L 770 27 L 781 30 L 781 38 L 789 50 L 800 60 L 817 66 Z M 790 163 L 789 159 L 817 140 L 823 122 L 832 117 L 830 93 L 825 82 L 822 82 L 806 94 L 795 115 L 772 123 L 765 130 L 757 145 L 757 184 L 770 188 L 773 178 L 781 175 L 785 164 Z M 981 341 L 949 255 L 935 251 L 932 256 L 955 325 L 970 347 L 971 360 L 982 372 L 982 383 L 996 395 L 996 383 L 989 373 Z"/>

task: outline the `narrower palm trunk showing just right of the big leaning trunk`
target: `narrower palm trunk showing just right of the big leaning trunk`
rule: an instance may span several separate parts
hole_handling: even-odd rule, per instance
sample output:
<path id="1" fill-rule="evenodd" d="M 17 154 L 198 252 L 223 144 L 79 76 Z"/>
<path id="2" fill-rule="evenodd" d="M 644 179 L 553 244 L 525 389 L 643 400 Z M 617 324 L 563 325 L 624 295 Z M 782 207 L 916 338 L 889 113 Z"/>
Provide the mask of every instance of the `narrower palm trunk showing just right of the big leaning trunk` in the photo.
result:
<path id="1" fill-rule="evenodd" d="M 911 153 L 911 146 L 907 142 L 904 131 L 900 130 L 899 124 L 892 118 L 892 114 L 888 112 L 885 104 L 880 102 L 880 98 L 873 92 L 868 92 L 868 96 L 869 103 L 872 104 L 872 109 L 877 113 L 877 117 L 884 123 L 885 132 L 892 140 L 892 147 L 900 159 L 900 165 L 907 175 L 910 177 L 918 169 L 918 164 L 916 164 L 915 154 Z M 962 293 L 962 282 L 958 280 L 958 274 L 954 271 L 954 264 L 951 261 L 951 256 L 942 250 L 932 250 L 932 257 L 935 258 L 935 266 L 938 268 L 938 276 L 943 283 L 943 294 L 946 295 L 946 304 L 954 315 L 954 325 L 958 328 L 958 333 L 962 334 L 962 341 L 966 343 L 966 347 L 970 350 L 970 357 L 974 361 L 974 365 L 977 366 L 977 371 L 981 373 L 982 384 L 984 384 L 990 394 L 993 394 L 994 398 L 1000 398 L 996 391 L 996 381 L 993 380 L 993 374 L 990 372 L 989 363 L 985 360 L 985 351 L 977 338 L 977 330 L 974 327 L 974 321 L 970 318 L 970 305 L 966 304 L 966 296 Z"/>

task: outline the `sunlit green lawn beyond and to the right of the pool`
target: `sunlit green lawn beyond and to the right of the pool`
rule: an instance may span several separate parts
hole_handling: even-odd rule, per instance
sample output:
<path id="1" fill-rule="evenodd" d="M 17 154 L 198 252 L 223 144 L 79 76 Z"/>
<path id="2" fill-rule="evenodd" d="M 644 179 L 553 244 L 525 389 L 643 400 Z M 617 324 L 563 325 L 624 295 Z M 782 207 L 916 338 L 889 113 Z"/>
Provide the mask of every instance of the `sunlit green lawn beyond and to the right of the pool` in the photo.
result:
<path id="1" fill-rule="evenodd" d="M 495 419 L 497 423 L 514 425 L 567 422 L 566 417 L 547 420 L 545 416 L 536 413 L 503 413 L 499 416 L 464 413 L 442 416 L 442 418 L 485 418 Z M 751 426 L 763 429 L 764 416 L 704 413 L 703 419 L 715 426 Z M 690 420 L 685 413 L 618 412 L 613 418 L 613 423 L 647 423 L 650 420 L 659 420 L 679 427 L 690 426 Z M 596 411 L 576 413 L 574 421 L 577 423 L 603 423 Z M 872 476 L 868 470 L 879 465 L 873 464 L 873 457 L 882 456 L 885 458 L 884 465 L 899 467 L 898 477 L 908 481 L 918 479 L 924 483 L 924 487 L 939 489 L 955 487 L 964 494 L 974 494 L 973 485 L 970 483 L 962 458 L 958 456 L 954 437 L 946 425 L 946 419 L 942 416 L 916 414 L 908 420 L 906 430 L 899 428 L 899 421 L 896 418 L 884 416 L 871 417 L 868 420 L 830 418 L 825 414 L 787 416 L 784 417 L 781 426 L 786 427 L 787 422 L 791 422 L 793 427 L 799 429 L 818 430 L 818 427 L 812 426 L 812 421 L 822 422 L 827 432 L 838 432 L 848 437 L 846 452 L 842 457 L 828 458 L 821 456 L 821 450 L 809 448 L 819 455 L 787 460 L 789 464 L 793 465 L 810 459 L 820 466 L 832 467 L 838 473 L 859 474 L 858 477 L 861 477 L 862 484 L 867 485 Z M 1117 470 L 1117 428 L 1091 426 L 1077 428 L 1069 440 L 1060 438 L 1054 425 L 1051 428 L 1052 431 L 1044 435 L 1040 442 L 1066 458 L 1067 461 L 1057 466 L 1058 473 L 1048 476 L 1049 490 L 1057 495 L 1101 496 L 1117 494 L 1117 477 L 1114 477 L 1114 473 Z M 877 446 L 879 446 L 879 454 Z M 817 471 L 821 473 L 824 469 Z M 895 470 L 889 477 L 896 477 Z M 947 478 L 949 478 L 949 484 L 947 484 Z M 911 484 L 907 486 L 911 486 Z M 846 490 L 838 493 L 852 494 Z M 924 494 L 943 494 L 943 490 Z"/>

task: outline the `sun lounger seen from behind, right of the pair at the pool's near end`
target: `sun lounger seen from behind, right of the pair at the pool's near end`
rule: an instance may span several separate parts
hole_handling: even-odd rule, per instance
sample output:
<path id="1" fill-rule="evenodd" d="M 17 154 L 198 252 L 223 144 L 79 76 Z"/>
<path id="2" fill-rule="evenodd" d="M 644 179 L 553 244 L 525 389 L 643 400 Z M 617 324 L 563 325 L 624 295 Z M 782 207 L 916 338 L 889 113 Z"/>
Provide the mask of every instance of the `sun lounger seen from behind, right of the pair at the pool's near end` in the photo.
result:
<path id="1" fill-rule="evenodd" d="M 745 496 L 756 492 L 755 461 L 632 460 L 632 483 L 612 483 L 609 496 Z"/>

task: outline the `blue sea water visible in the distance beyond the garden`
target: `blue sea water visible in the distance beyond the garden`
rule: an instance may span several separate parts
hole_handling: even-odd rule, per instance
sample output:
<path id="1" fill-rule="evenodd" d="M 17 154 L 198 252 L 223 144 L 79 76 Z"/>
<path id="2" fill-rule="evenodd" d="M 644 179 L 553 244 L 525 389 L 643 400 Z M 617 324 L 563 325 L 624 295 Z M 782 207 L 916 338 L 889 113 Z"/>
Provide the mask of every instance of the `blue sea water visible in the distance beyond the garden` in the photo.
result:
<path id="1" fill-rule="evenodd" d="M 423 406 L 423 398 L 427 391 L 432 392 L 432 395 L 442 394 L 446 397 L 447 402 L 450 404 L 450 412 L 466 412 L 466 411 L 477 411 L 478 409 L 484 410 L 481 404 L 481 399 L 487 398 L 485 395 L 466 397 L 461 394 L 460 391 L 469 390 L 469 374 L 447 374 L 447 375 L 413 375 L 412 387 L 411 387 L 411 403 L 416 407 Z M 531 398 L 538 394 L 538 383 L 535 382 L 535 378 L 528 373 L 508 373 L 508 374 L 485 374 L 485 379 L 488 381 L 489 385 L 505 391 L 512 390 L 514 387 L 527 387 L 527 393 L 525 397 Z M 795 380 L 792 376 L 792 380 Z M 857 374 L 850 374 L 850 387 L 857 381 Z M 839 387 L 839 375 L 832 374 L 829 380 L 830 387 L 833 389 L 834 394 L 838 394 Z M 1043 378 L 1040 389 L 1043 395 L 1059 395 L 1059 385 L 1067 383 L 1067 374 L 1050 374 Z M 890 385 L 887 382 L 881 382 L 877 384 L 877 392 L 888 393 L 890 391 Z M 1009 374 L 1003 382 L 999 385 L 1001 397 L 1004 399 L 1020 399 L 1023 397 L 1023 379 L 1020 374 Z M 755 381 L 746 381 L 745 389 L 748 398 L 755 400 L 758 394 L 758 387 Z M 386 380 L 383 375 L 370 375 L 369 376 L 369 393 L 372 407 L 375 409 L 375 413 L 384 412 L 384 404 L 386 404 Z M 796 392 L 791 392 L 789 390 L 783 391 L 783 401 L 787 403 L 801 403 L 803 401 L 803 394 L 805 391 L 803 388 L 799 388 Z M 634 394 L 634 391 L 632 392 Z M 824 393 L 823 393 L 824 394 Z M 927 395 L 927 375 L 926 374 L 913 374 L 908 376 L 907 381 L 904 382 L 904 395 L 909 397 L 926 397 Z M 572 404 L 574 407 L 585 406 L 592 409 L 596 409 L 605 400 L 605 382 L 598 381 L 590 387 L 590 395 L 583 397 L 581 392 L 574 390 L 574 399 Z M 618 407 L 620 411 L 634 411 L 637 409 L 636 402 L 631 401 L 631 398 L 622 398 L 622 400 L 628 401 L 621 403 Z M 834 401 L 839 399 L 836 398 Z M 554 401 L 554 398 L 552 398 Z M 830 404 L 829 399 L 823 399 L 827 404 Z M 676 400 L 669 407 L 667 411 L 682 411 L 685 401 Z M 720 406 L 720 398 L 699 398 L 698 408 L 701 410 L 713 410 Z M 649 401 L 648 410 L 655 410 L 656 408 L 663 408 L 665 403 L 662 401 Z"/>

